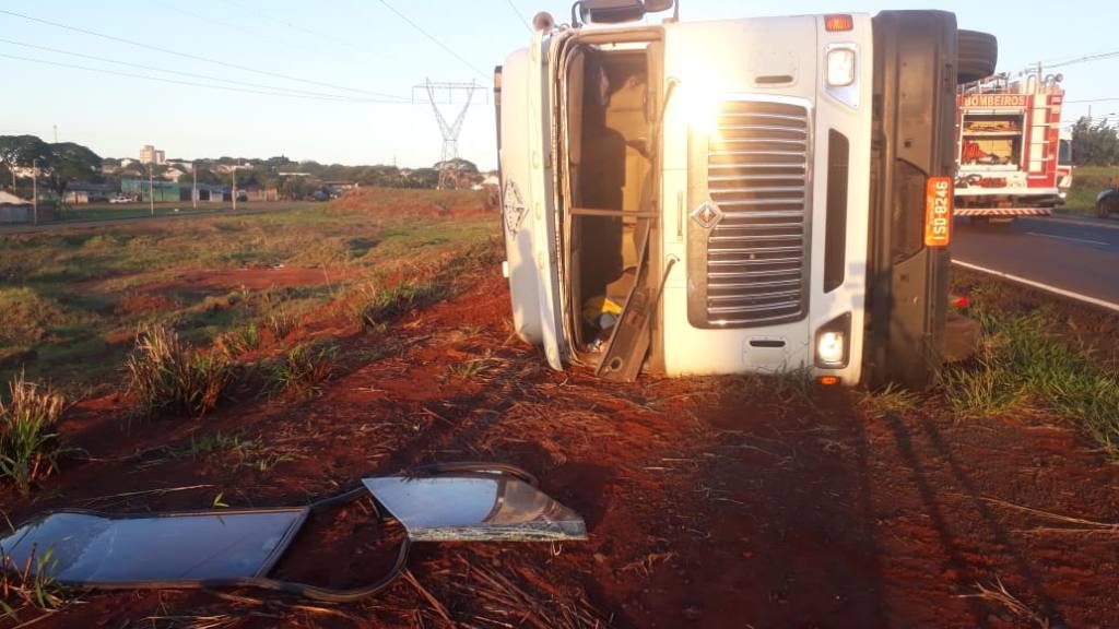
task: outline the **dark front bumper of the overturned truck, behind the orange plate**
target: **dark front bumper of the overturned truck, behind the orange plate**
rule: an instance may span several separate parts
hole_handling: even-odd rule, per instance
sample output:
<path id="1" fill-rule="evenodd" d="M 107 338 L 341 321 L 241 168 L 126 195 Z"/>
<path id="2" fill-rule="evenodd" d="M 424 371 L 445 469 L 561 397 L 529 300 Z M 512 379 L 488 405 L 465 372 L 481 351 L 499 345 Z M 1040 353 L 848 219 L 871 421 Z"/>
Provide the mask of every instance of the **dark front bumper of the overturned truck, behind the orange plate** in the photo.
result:
<path id="1" fill-rule="evenodd" d="M 938 378 L 949 252 L 924 244 L 925 182 L 953 177 L 956 18 L 874 18 L 874 140 L 864 381 L 923 388 Z"/>

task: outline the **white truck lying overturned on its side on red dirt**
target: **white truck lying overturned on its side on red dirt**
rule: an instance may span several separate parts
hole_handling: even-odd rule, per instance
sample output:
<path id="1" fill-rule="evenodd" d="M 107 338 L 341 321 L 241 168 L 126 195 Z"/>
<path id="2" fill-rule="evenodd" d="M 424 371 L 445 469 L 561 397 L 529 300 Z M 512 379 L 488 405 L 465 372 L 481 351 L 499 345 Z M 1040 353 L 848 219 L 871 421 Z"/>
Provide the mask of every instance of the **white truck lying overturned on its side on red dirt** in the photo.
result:
<path id="1" fill-rule="evenodd" d="M 995 59 L 942 11 L 642 22 L 673 4 L 542 13 L 497 69 L 517 334 L 613 379 L 928 384 L 956 85 Z"/>

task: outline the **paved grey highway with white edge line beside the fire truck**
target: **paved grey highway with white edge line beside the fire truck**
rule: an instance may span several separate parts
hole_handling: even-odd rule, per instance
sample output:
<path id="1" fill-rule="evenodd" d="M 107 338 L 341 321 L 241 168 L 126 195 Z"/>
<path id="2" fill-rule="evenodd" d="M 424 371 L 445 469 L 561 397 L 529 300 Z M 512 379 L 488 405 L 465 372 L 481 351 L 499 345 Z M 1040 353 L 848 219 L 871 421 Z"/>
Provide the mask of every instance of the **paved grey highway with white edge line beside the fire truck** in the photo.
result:
<path id="1" fill-rule="evenodd" d="M 1023 217 L 1009 225 L 956 220 L 952 260 L 1119 309 L 1119 220 Z"/>

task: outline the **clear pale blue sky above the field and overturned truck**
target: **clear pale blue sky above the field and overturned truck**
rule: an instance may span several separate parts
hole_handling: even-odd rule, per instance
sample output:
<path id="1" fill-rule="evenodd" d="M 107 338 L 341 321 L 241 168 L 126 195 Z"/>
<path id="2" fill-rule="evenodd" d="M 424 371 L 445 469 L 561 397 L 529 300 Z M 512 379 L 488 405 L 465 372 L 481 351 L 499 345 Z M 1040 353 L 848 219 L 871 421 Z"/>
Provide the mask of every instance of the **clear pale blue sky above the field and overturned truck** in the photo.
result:
<path id="1" fill-rule="evenodd" d="M 536 11 L 548 10 L 557 21 L 566 21 L 570 2 L 387 2 L 0 0 L 0 11 L 187 55 L 0 12 L 0 134 L 31 133 L 50 141 L 57 125 L 59 141 L 87 144 L 104 157 L 137 157 L 142 144 L 152 143 L 164 149 L 168 158 L 285 154 L 328 163 L 392 163 L 395 159 L 401 166 L 417 167 L 440 157 L 441 139 L 430 106 L 370 102 L 384 100 L 373 93 L 411 101 L 412 87 L 425 77 L 474 79 L 487 90 L 476 94 L 476 105 L 468 111 L 460 153 L 481 168 L 492 168 L 493 110 L 488 90 L 492 68 L 527 43 L 529 31 L 524 20 L 530 20 Z M 681 18 L 837 10 L 873 13 L 885 8 L 931 4 L 904 0 L 847 0 L 840 4 L 817 0 L 683 0 Z M 446 49 L 420 34 L 389 6 Z M 998 36 L 1000 69 L 1017 71 L 1038 60 L 1065 60 L 1119 49 L 1116 0 L 946 0 L 937 8 L 955 11 L 962 28 Z M 29 59 L 271 94 L 152 82 Z M 1057 72 L 1065 75 L 1070 101 L 1066 122 L 1088 113 L 1089 106 L 1093 116 L 1119 112 L 1119 57 L 1070 65 Z M 300 91 L 304 97 L 275 95 L 280 91 Z M 1082 102 L 1089 100 L 1099 101 Z M 453 110 L 445 106 L 445 115 L 453 119 Z"/>

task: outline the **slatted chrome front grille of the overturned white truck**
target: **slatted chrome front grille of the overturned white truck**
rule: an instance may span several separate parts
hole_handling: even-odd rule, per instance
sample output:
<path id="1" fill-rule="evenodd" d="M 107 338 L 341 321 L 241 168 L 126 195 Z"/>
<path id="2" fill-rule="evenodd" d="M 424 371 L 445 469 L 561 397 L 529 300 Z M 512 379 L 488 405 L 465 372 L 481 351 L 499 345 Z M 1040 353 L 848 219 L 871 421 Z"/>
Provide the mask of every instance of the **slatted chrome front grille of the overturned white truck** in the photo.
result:
<path id="1" fill-rule="evenodd" d="M 749 327 L 806 312 L 809 147 L 806 106 L 723 104 L 707 143 L 706 323 Z"/>

